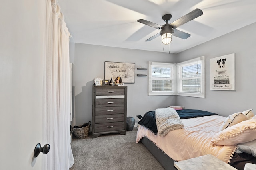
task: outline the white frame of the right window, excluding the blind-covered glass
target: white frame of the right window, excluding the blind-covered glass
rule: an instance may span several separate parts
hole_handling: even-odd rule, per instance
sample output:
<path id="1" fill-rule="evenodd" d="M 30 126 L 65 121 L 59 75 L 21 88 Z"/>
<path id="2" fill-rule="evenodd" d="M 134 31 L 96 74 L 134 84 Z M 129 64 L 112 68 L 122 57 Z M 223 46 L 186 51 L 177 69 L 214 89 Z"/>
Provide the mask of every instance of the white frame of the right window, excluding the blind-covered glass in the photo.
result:
<path id="1" fill-rule="evenodd" d="M 188 66 L 188 65 L 193 65 L 196 63 L 201 63 L 201 89 L 200 89 L 200 93 L 198 92 L 183 92 L 182 91 L 182 67 L 183 66 Z M 177 63 L 176 64 L 176 72 L 177 72 L 177 76 L 176 76 L 176 83 L 177 83 L 177 92 L 176 95 L 177 96 L 190 96 L 190 97 L 198 97 L 198 98 L 205 98 L 205 59 L 204 56 L 202 57 L 197 57 L 195 59 L 191 59 L 188 61 L 184 61 L 182 63 Z M 198 78 L 198 77 L 197 77 Z"/>

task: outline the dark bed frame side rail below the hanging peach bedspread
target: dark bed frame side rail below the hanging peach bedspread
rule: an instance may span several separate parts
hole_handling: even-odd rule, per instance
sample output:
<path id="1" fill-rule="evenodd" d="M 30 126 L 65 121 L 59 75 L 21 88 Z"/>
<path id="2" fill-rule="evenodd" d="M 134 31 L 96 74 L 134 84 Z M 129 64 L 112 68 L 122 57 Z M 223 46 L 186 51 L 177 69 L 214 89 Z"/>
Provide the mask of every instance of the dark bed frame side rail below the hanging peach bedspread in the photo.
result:
<path id="1" fill-rule="evenodd" d="M 158 162 L 164 167 L 164 169 L 177 170 L 177 168 L 174 167 L 175 161 L 172 158 L 170 158 L 167 154 L 165 154 L 162 150 L 160 150 L 147 137 L 143 137 L 140 141 L 150 151 L 150 153 L 156 158 L 156 160 L 158 160 Z"/>

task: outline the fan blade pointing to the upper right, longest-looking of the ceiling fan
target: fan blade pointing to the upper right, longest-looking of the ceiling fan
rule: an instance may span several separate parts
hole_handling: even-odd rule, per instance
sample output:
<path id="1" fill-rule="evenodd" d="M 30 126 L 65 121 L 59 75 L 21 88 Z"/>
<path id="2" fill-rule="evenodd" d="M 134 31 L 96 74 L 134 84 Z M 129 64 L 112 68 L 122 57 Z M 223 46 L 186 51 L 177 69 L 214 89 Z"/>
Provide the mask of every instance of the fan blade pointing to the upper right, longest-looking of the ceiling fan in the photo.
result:
<path id="1" fill-rule="evenodd" d="M 196 8 L 195 10 L 189 12 L 188 14 L 180 17 L 178 20 L 170 23 L 174 29 L 179 27 L 180 25 L 183 25 L 184 23 L 187 23 L 188 21 L 194 20 L 195 18 L 201 16 L 203 14 L 203 11 Z"/>

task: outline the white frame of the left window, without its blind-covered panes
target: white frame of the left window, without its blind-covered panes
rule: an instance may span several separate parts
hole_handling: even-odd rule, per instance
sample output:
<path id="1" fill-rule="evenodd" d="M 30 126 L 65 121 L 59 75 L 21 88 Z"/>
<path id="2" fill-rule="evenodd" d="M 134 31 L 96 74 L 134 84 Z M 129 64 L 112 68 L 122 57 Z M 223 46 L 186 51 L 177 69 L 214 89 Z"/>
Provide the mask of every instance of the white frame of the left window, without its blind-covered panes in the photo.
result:
<path id="1" fill-rule="evenodd" d="M 155 92 L 152 91 L 152 80 L 159 78 L 152 77 L 152 66 L 154 67 L 168 67 L 171 68 L 171 77 L 170 78 L 160 78 L 172 80 L 172 91 L 171 92 Z M 176 95 L 176 64 L 173 63 L 159 63 L 159 62 L 148 62 L 148 96 L 158 96 L 158 95 Z"/>

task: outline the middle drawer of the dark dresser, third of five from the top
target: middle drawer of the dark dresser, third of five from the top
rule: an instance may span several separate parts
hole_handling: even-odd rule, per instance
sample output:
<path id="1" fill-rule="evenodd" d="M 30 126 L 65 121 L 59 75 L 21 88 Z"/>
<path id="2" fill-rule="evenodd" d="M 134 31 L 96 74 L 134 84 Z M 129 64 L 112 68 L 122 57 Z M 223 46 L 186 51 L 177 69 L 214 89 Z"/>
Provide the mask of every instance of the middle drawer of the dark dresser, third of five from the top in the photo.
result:
<path id="1" fill-rule="evenodd" d="M 95 115 L 113 115 L 124 113 L 124 106 L 95 107 Z"/>

